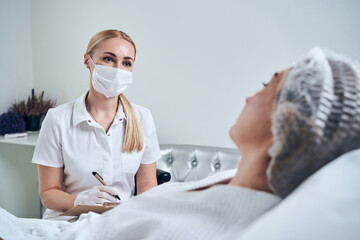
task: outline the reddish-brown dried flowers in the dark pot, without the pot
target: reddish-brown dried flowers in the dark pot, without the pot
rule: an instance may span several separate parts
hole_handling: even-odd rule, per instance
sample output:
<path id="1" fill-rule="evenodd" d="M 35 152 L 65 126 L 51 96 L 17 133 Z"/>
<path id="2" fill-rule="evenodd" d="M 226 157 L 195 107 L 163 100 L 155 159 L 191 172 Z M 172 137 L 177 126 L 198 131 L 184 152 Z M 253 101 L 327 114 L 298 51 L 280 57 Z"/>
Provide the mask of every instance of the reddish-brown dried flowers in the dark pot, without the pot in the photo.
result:
<path id="1" fill-rule="evenodd" d="M 9 108 L 9 111 L 20 113 L 23 117 L 39 117 L 45 115 L 49 108 L 54 107 L 55 104 L 56 101 L 54 100 L 44 99 L 44 91 L 36 95 L 34 89 L 32 89 L 27 102 L 24 100 L 15 102 Z"/>

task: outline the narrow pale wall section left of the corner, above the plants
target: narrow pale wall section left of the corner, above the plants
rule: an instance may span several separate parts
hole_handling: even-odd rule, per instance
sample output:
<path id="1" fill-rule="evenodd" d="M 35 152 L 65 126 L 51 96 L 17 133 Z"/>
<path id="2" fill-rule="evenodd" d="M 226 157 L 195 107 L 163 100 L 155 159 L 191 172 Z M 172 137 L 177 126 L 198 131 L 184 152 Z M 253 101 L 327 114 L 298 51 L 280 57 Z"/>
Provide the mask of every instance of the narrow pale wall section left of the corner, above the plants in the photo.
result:
<path id="1" fill-rule="evenodd" d="M 0 114 L 33 87 L 30 0 L 0 0 Z"/>

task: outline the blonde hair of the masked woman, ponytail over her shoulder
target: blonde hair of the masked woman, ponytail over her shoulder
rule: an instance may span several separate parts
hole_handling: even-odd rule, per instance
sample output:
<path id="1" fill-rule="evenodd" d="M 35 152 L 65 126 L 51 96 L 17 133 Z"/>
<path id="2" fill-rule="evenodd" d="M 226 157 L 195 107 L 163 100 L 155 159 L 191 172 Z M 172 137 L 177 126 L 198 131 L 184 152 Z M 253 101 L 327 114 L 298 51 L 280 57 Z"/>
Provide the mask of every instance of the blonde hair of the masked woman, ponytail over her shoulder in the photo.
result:
<path id="1" fill-rule="evenodd" d="M 133 45 L 136 55 L 136 47 L 133 40 L 126 33 L 114 29 L 104 30 L 95 34 L 89 41 L 86 53 L 92 56 L 94 50 L 109 38 L 125 39 L 131 43 L 131 45 Z M 143 135 L 141 133 L 135 110 L 129 100 L 127 100 L 123 94 L 119 95 L 119 99 L 126 116 L 126 127 L 124 140 L 122 142 L 122 151 L 127 153 L 140 151 L 143 148 Z"/>

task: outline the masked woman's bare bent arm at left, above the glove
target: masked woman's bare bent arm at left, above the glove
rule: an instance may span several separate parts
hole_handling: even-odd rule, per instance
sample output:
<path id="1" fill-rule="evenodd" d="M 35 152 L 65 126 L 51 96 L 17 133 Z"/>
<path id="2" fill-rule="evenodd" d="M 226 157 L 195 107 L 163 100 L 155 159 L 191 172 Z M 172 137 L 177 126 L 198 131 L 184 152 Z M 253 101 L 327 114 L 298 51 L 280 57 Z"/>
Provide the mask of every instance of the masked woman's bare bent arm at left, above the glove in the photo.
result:
<path id="1" fill-rule="evenodd" d="M 38 165 L 39 195 L 46 208 L 64 212 L 74 207 L 76 196 L 63 191 L 63 168 Z"/>

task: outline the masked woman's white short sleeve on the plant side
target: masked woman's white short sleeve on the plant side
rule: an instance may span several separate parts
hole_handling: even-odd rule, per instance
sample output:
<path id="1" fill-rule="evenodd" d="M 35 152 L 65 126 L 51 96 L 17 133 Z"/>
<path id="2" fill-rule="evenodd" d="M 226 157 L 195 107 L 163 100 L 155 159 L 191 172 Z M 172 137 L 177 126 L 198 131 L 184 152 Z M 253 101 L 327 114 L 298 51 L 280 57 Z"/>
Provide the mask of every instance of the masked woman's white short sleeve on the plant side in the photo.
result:
<path id="1" fill-rule="evenodd" d="M 64 160 L 60 142 L 60 126 L 54 110 L 50 109 L 41 125 L 32 162 L 48 167 L 63 167 Z"/>

